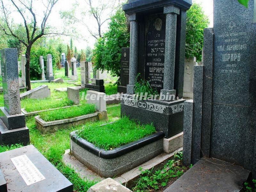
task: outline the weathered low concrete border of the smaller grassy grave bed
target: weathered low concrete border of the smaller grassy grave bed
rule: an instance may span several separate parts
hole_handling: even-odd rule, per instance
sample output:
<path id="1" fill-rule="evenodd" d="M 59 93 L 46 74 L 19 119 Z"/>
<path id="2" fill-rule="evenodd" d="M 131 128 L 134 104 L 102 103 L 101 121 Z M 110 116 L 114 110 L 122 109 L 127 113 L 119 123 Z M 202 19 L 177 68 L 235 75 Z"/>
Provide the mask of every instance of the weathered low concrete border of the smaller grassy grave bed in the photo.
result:
<path id="1" fill-rule="evenodd" d="M 108 120 L 107 111 L 96 112 L 88 115 L 77 116 L 68 119 L 61 119 L 56 121 L 44 121 L 40 116 L 35 116 L 36 128 L 42 133 L 54 133 L 60 129 L 70 128 L 72 126 L 84 124 L 88 121 Z"/>

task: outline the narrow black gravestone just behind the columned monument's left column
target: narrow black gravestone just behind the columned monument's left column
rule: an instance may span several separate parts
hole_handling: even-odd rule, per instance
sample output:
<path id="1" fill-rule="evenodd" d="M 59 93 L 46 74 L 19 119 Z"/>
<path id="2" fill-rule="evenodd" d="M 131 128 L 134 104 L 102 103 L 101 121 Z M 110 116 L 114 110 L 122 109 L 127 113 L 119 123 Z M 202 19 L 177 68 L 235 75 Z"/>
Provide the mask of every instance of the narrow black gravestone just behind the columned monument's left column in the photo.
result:
<path id="1" fill-rule="evenodd" d="M 123 47 L 121 51 L 121 70 L 120 70 L 120 85 L 117 87 L 117 92 L 126 93 L 126 85 L 129 84 L 129 61 L 130 48 Z"/>

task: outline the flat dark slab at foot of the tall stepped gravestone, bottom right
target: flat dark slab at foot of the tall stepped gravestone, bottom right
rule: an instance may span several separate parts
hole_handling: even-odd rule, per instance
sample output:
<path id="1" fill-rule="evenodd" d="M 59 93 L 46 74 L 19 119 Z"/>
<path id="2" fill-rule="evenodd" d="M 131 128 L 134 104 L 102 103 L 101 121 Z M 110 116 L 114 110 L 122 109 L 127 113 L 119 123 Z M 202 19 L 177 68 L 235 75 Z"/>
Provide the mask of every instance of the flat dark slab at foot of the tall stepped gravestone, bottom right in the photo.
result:
<path id="1" fill-rule="evenodd" d="M 200 159 L 164 192 L 240 191 L 250 171 L 218 159 Z"/>

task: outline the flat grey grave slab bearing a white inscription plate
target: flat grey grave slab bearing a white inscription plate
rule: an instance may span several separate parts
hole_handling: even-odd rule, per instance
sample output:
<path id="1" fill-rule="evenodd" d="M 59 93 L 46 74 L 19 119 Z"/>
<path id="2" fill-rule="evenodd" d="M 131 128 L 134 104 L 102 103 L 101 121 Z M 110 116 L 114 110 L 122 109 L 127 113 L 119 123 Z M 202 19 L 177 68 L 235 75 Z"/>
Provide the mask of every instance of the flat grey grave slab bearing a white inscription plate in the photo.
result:
<path id="1" fill-rule="evenodd" d="M 33 145 L 0 153 L 0 161 L 7 191 L 73 192 L 73 184 Z"/>

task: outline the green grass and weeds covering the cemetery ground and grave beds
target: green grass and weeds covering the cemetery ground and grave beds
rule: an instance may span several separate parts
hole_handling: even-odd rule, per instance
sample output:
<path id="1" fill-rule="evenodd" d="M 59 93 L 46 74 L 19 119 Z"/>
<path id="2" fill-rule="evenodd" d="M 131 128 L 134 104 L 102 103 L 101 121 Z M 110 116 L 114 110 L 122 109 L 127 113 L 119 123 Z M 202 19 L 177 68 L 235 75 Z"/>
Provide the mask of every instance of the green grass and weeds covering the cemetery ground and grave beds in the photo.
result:
<path id="1" fill-rule="evenodd" d="M 60 75 L 62 78 L 62 76 Z M 43 83 L 33 83 L 32 88 L 36 88 Z M 61 87 L 74 87 L 74 84 L 69 83 L 44 83 L 47 85 L 51 90 L 51 97 L 44 98 L 44 99 L 22 99 L 21 100 L 21 108 L 25 108 L 27 112 L 33 112 L 38 110 L 45 110 L 45 109 L 52 109 L 52 108 L 58 108 L 58 107 L 64 107 L 64 106 L 72 106 L 74 105 L 72 101 L 68 100 L 67 98 L 67 92 L 56 92 L 54 91 L 55 88 L 61 88 Z M 117 86 L 108 84 L 105 86 L 106 94 L 115 94 L 117 93 Z M 84 90 L 80 91 L 80 98 L 82 97 L 82 93 Z M 69 110 L 69 112 L 63 113 L 63 111 L 60 112 L 61 109 L 52 110 L 52 111 L 46 111 L 43 113 L 40 113 L 42 118 L 44 118 L 47 121 L 51 120 L 57 120 L 57 119 L 64 119 L 68 118 L 70 116 L 79 116 L 81 115 L 81 108 L 86 104 L 86 100 L 80 100 L 79 107 L 74 106 L 75 110 Z M 0 93 L 0 105 L 4 105 L 3 100 L 3 93 Z M 89 106 L 90 108 L 90 106 Z M 64 109 L 65 110 L 65 109 Z M 89 109 L 89 113 L 94 112 L 90 111 L 92 109 Z M 65 112 L 65 111 L 64 111 Z M 97 122 L 88 122 L 84 125 L 79 125 L 75 127 L 70 127 L 68 129 L 58 130 L 55 133 L 51 134 L 45 134 L 42 135 L 37 129 L 35 124 L 35 115 L 33 116 L 27 116 L 26 117 L 26 125 L 29 128 L 30 133 L 30 144 L 34 145 L 60 172 L 62 172 L 70 182 L 74 184 L 74 190 L 76 191 L 87 191 L 88 188 L 90 188 L 92 185 L 99 182 L 99 180 L 87 180 L 86 178 L 83 180 L 79 177 L 79 175 L 70 167 L 64 165 L 62 163 L 62 155 L 65 153 L 66 149 L 70 148 L 70 139 L 69 134 L 70 132 L 81 130 L 81 133 L 84 133 L 84 137 L 88 137 L 89 135 L 85 134 L 82 130 L 84 127 L 97 127 L 101 124 L 117 121 L 120 118 L 120 104 L 113 104 L 107 106 L 107 112 L 108 112 L 108 121 L 97 121 Z M 61 116 L 62 114 L 63 116 Z M 134 122 L 130 122 L 131 124 L 134 124 Z M 126 125 L 127 130 L 131 128 L 131 125 L 129 124 L 127 119 L 123 119 L 119 122 L 117 122 L 116 129 L 118 130 L 118 127 L 120 124 Z M 110 125 L 111 126 L 111 125 Z M 134 125 L 135 126 L 135 125 Z M 132 127 L 134 127 L 132 126 Z M 148 132 L 136 132 L 136 130 L 128 130 L 130 131 L 130 139 L 126 140 L 126 136 L 121 138 L 123 139 L 123 143 L 115 143 L 116 140 L 120 140 L 117 136 L 115 136 L 115 133 L 113 132 L 107 132 L 107 129 L 109 128 L 109 125 L 106 126 L 106 134 L 109 134 L 109 138 L 111 140 L 101 140 L 101 143 L 99 143 L 99 146 L 102 146 L 103 148 L 116 148 L 124 143 L 129 143 L 133 140 L 137 140 L 140 138 L 143 138 L 146 135 L 150 135 L 151 133 L 155 132 L 154 127 L 151 125 L 146 125 Z M 120 134 L 122 134 L 121 131 L 123 131 L 124 134 L 126 134 L 127 130 L 119 130 Z M 99 130 L 98 130 L 99 131 Z M 97 130 L 92 133 L 91 137 L 95 137 L 95 134 L 97 135 Z M 106 138 L 106 137 L 105 137 Z M 112 141 L 112 142 L 110 142 Z M 114 141 L 114 144 L 113 144 Z M 107 147 L 108 143 L 112 143 L 109 147 Z M 0 147 L 0 152 L 4 152 L 7 150 L 11 150 L 14 148 L 20 148 L 21 145 L 16 144 L 12 145 L 11 147 Z M 176 159 L 177 162 L 174 160 L 169 161 L 163 169 L 158 170 L 156 172 L 153 172 L 153 170 L 141 170 L 143 173 L 143 177 L 140 177 L 138 181 L 136 181 L 136 186 L 133 188 L 134 191 L 157 191 L 160 189 L 164 189 L 165 186 L 170 185 L 174 180 L 179 178 L 183 172 L 187 169 L 186 167 L 180 166 L 180 160 L 181 160 L 181 154 L 177 155 Z M 179 166 L 178 166 L 179 165 Z"/>

